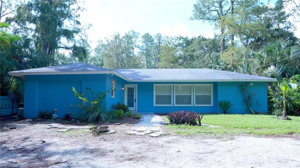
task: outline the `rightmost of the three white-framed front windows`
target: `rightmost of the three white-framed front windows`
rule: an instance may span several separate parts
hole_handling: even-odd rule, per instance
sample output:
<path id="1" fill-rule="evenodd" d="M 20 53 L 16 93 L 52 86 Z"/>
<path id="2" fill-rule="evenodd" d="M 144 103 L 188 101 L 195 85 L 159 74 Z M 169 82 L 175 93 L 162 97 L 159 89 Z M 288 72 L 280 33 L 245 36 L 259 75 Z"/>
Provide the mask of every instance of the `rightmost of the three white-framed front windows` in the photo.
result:
<path id="1" fill-rule="evenodd" d="M 212 84 L 194 85 L 194 106 L 213 106 Z"/>

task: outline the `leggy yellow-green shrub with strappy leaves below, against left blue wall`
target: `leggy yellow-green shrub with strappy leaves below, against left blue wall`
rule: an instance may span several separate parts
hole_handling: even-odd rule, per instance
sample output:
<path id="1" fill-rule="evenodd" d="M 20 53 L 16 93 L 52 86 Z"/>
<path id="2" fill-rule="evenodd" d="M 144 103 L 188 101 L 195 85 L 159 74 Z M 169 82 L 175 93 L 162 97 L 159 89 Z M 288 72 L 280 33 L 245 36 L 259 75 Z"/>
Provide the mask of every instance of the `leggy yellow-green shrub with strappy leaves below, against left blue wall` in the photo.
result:
<path id="1" fill-rule="evenodd" d="M 109 91 L 100 92 L 97 94 L 91 92 L 92 97 L 86 96 L 91 88 L 85 88 L 85 93 L 79 94 L 76 89 L 73 87 L 73 95 L 79 99 L 78 104 L 71 105 L 77 108 L 83 109 L 85 115 L 82 120 L 87 122 L 104 122 L 104 121 L 113 121 L 118 119 L 113 109 L 108 110 L 107 103 L 103 103 L 103 100 L 106 97 L 106 94 Z"/>

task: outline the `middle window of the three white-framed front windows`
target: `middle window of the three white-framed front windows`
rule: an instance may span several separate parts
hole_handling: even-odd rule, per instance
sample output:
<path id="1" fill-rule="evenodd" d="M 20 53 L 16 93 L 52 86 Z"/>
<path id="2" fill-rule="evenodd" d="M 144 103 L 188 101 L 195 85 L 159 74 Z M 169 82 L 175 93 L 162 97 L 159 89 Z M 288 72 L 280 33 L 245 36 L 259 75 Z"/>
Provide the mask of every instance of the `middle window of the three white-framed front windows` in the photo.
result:
<path id="1" fill-rule="evenodd" d="M 174 85 L 175 106 L 193 106 L 193 85 Z"/>

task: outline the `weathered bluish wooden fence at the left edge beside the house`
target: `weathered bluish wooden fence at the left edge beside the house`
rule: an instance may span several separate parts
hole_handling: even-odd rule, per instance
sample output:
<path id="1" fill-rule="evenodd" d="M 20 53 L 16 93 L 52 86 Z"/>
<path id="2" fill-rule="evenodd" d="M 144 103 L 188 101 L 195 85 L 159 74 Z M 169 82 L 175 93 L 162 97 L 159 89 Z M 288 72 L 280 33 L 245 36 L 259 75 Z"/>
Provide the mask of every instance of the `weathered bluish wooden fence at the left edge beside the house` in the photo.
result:
<path id="1" fill-rule="evenodd" d="M 8 96 L 0 96 L 0 115 L 14 114 L 18 110 L 16 99 Z"/>

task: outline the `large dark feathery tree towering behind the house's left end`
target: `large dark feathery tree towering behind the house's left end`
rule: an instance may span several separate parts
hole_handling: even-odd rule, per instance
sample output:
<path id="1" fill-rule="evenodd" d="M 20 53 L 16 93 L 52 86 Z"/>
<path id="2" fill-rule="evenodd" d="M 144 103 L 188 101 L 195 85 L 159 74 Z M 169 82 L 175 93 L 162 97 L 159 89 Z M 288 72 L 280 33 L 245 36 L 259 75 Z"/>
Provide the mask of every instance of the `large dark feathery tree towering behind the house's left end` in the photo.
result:
<path id="1" fill-rule="evenodd" d="M 45 60 L 41 66 L 48 66 L 54 65 L 58 49 L 71 51 L 79 61 L 86 57 L 85 48 L 77 44 L 78 37 L 85 39 L 85 28 L 78 20 L 83 10 L 76 0 L 29 0 L 6 21 L 19 27 L 16 33 L 32 34 L 36 55 Z"/>

